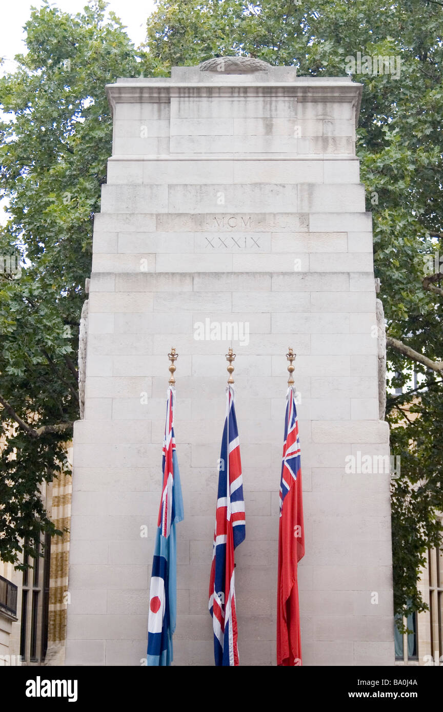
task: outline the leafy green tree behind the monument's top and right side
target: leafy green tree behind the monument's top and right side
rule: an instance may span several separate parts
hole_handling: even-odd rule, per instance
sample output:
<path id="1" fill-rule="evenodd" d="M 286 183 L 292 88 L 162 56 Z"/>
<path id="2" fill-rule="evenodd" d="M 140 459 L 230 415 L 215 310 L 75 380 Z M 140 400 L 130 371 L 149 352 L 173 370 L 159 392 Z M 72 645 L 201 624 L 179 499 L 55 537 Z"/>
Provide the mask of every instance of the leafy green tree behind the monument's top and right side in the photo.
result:
<path id="1" fill-rule="evenodd" d="M 145 72 L 155 75 L 172 65 L 246 54 L 296 65 L 299 75 L 352 73 L 363 84 L 357 147 L 374 218 L 388 367 L 395 374 L 388 379 L 386 417 L 392 452 L 401 456 L 401 474 L 392 481 L 400 614 L 424 609 L 417 577 L 427 548 L 442 538 L 442 12 L 434 0 L 381 6 L 375 0 L 318 0 L 315 6 L 303 0 L 161 0 L 147 24 L 144 57 Z M 374 73 L 374 57 L 387 57 L 394 71 L 382 64 Z M 419 387 L 390 396 L 414 371 Z"/>

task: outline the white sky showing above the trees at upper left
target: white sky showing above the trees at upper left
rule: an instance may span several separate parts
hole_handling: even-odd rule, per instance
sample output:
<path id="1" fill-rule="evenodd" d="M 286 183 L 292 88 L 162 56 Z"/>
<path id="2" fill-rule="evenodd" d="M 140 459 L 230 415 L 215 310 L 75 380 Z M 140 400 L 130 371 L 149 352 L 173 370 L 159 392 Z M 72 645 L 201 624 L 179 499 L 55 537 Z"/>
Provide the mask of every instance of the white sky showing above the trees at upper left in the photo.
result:
<path id="1" fill-rule="evenodd" d="M 75 14 L 88 3 L 87 0 L 55 0 L 51 4 Z M 14 70 L 14 56 L 25 51 L 23 26 L 29 19 L 31 6 L 42 5 L 41 0 L 3 0 L 1 3 L 0 57 L 4 57 L 5 62 L 0 73 Z M 145 40 L 146 20 L 154 8 L 155 0 L 108 0 L 108 11 L 115 12 L 127 26 L 127 34 L 135 46 Z"/>

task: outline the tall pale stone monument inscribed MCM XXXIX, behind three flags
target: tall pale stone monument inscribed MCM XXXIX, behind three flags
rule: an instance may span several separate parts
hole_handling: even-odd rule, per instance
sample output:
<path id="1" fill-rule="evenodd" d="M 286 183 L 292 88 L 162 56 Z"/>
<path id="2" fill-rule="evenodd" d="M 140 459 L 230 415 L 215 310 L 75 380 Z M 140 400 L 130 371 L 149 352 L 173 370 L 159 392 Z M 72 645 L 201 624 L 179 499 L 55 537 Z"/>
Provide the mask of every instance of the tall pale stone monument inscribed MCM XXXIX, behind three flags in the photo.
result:
<path id="1" fill-rule="evenodd" d="M 355 157 L 361 86 L 217 58 L 107 92 L 113 155 L 85 310 L 66 664 L 140 665 L 146 654 L 171 345 L 184 496 L 174 664 L 213 664 L 207 592 L 229 346 L 246 506 L 240 661 L 275 664 L 288 345 L 300 394 L 303 664 L 393 664 L 390 476 L 380 471 L 389 433 Z M 364 456 L 370 472 L 358 471 Z"/>

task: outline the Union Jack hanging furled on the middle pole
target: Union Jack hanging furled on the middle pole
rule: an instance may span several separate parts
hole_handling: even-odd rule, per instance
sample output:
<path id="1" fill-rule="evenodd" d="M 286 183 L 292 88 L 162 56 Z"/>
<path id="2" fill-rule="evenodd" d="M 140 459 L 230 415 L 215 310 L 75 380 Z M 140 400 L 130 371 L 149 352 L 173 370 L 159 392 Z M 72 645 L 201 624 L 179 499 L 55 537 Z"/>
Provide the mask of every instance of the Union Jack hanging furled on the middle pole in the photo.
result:
<path id="1" fill-rule="evenodd" d="M 239 665 L 234 588 L 234 549 L 245 538 L 243 479 L 239 432 L 234 409 L 234 391 L 226 388 L 226 420 L 219 461 L 217 516 L 209 581 L 209 611 L 214 628 L 214 658 L 217 666 Z"/>

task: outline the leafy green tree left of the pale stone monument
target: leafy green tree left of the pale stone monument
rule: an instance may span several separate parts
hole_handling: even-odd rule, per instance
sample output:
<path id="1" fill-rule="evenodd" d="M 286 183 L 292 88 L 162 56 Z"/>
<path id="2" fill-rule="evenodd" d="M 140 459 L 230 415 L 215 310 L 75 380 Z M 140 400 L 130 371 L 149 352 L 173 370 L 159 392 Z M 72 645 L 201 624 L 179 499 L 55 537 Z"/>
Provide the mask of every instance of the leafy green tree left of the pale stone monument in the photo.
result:
<path id="1" fill-rule="evenodd" d="M 104 13 L 103 0 L 75 16 L 34 9 L 28 53 L 0 80 L 0 557 L 15 564 L 25 537 L 35 556 L 55 532 L 39 487 L 68 468 L 78 418 L 78 322 L 112 147 L 105 84 L 140 73 Z"/>

